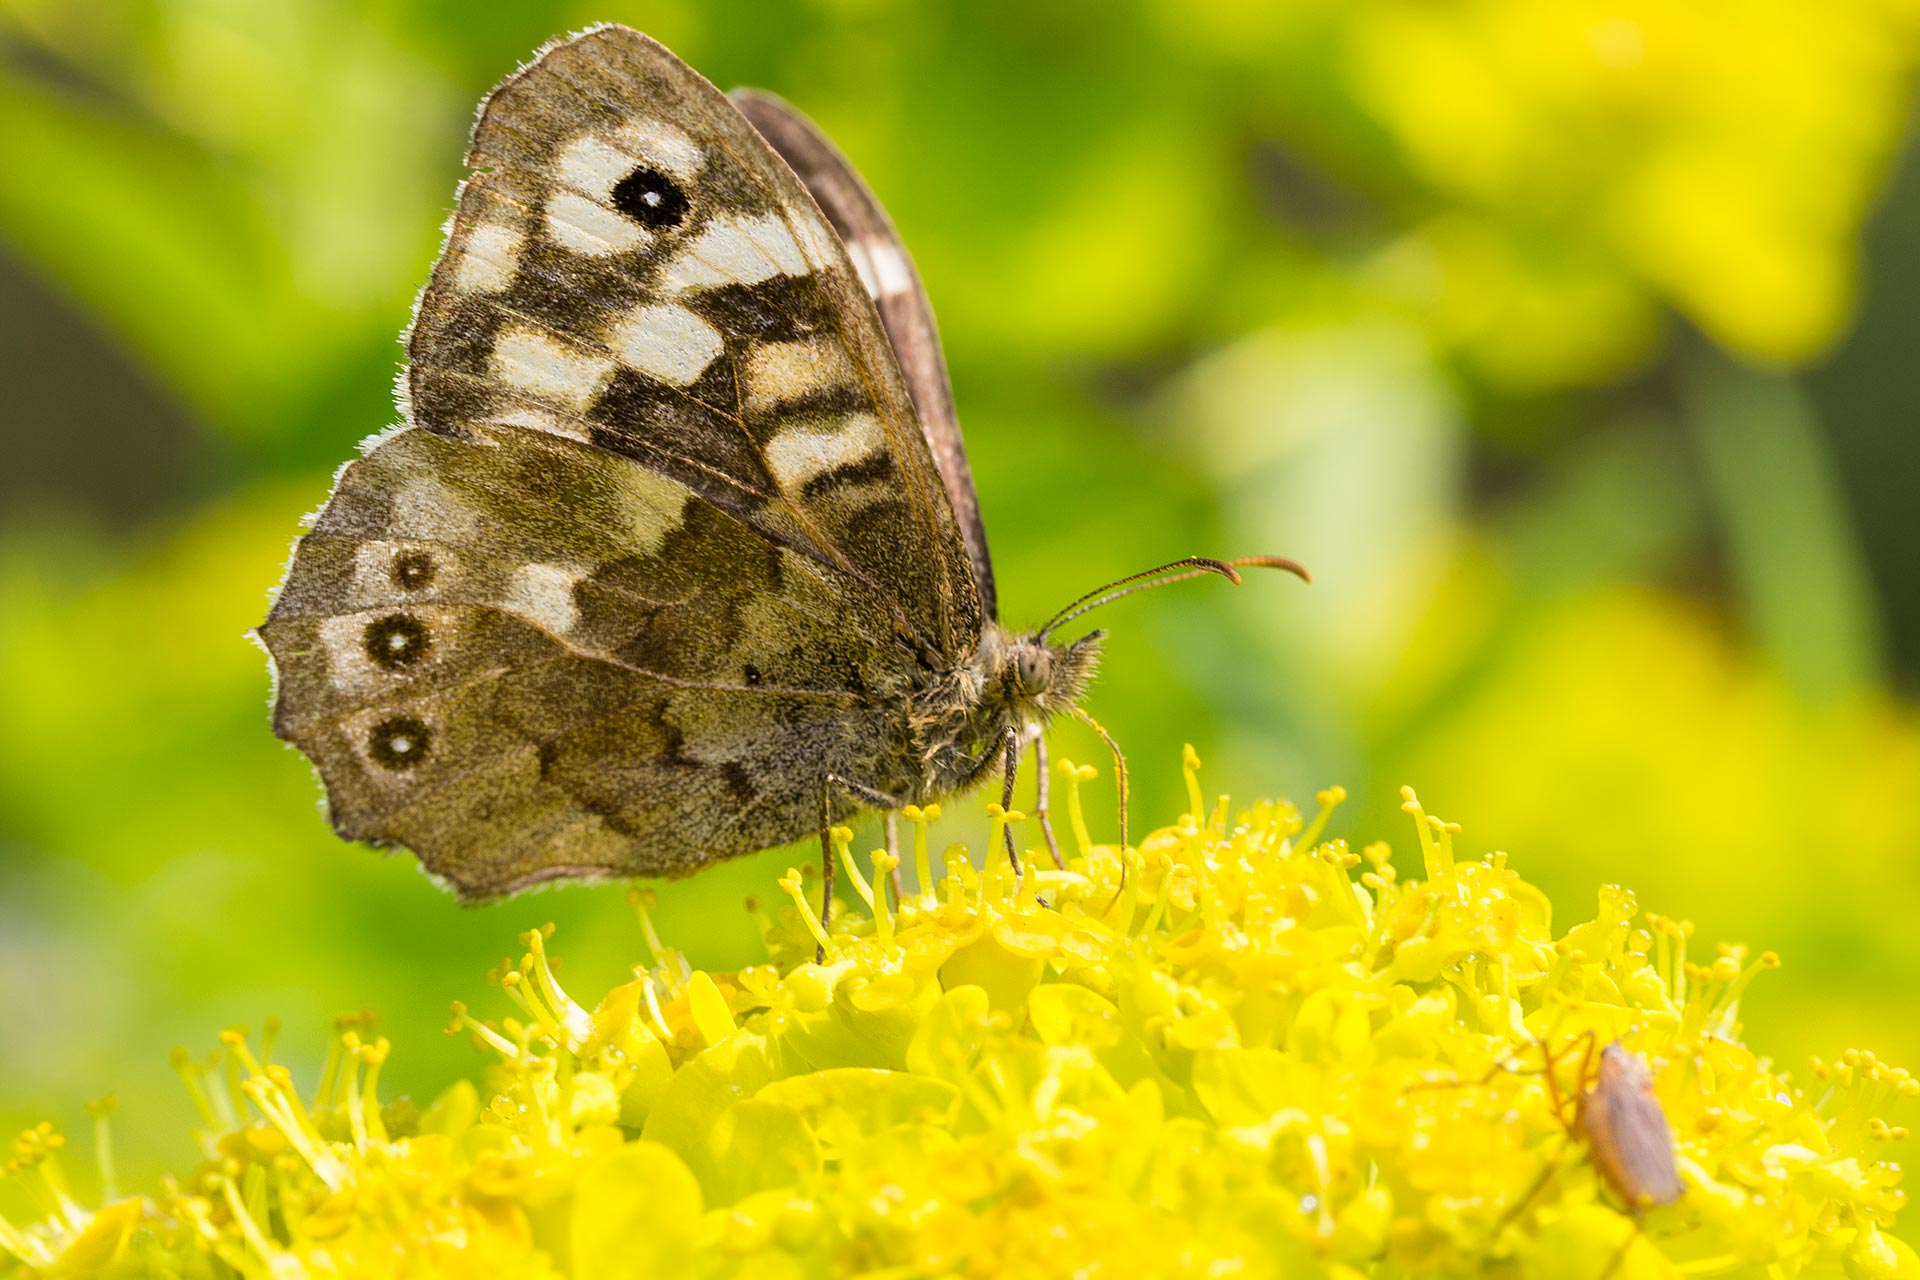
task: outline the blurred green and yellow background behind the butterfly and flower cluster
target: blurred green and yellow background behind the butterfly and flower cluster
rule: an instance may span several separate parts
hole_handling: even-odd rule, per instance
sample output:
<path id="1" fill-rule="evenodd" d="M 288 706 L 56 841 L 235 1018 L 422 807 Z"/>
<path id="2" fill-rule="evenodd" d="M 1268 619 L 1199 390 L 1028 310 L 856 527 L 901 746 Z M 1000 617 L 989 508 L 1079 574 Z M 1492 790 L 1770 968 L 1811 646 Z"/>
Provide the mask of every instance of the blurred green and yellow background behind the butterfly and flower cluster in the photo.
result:
<path id="1" fill-rule="evenodd" d="M 372 1006 L 430 1092 L 516 931 L 582 992 L 637 958 L 620 887 L 463 910 L 340 844 L 246 639 L 394 420 L 474 102 L 603 17 L 889 203 L 1012 622 L 1315 570 L 1102 618 L 1137 823 L 1183 741 L 1402 848 L 1409 781 L 1559 923 L 1620 881 L 1778 948 L 1784 1061 L 1920 1065 L 1912 0 L 0 0 L 0 1125 L 117 1090 L 138 1182 L 192 1159 L 177 1042 Z M 662 931 L 753 960 L 789 858 Z"/>

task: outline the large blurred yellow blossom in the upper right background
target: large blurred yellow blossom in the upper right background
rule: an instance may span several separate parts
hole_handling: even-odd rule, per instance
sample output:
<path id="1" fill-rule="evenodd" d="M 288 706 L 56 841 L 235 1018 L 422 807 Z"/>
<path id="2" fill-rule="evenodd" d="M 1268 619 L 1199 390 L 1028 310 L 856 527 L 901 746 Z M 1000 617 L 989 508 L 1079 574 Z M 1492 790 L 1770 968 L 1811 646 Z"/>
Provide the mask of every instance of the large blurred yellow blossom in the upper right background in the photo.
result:
<path id="1" fill-rule="evenodd" d="M 1415 234 L 1442 334 L 1523 386 L 1605 380 L 1665 301 L 1761 363 L 1853 313 L 1907 132 L 1901 0 L 1373 0 L 1352 92 L 1444 198 Z"/>

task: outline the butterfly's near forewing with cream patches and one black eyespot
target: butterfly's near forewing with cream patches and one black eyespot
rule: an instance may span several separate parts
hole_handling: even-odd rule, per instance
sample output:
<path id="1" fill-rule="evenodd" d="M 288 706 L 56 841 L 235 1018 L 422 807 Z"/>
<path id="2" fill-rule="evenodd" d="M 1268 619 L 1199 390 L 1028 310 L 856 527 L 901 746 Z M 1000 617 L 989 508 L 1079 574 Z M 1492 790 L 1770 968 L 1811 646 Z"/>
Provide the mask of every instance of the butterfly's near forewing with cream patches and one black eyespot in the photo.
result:
<path id="1" fill-rule="evenodd" d="M 620 27 L 488 100 L 409 342 L 415 422 L 557 430 L 979 633 L 960 533 L 845 248 L 712 84 Z M 931 578 L 931 581 L 929 581 Z"/>

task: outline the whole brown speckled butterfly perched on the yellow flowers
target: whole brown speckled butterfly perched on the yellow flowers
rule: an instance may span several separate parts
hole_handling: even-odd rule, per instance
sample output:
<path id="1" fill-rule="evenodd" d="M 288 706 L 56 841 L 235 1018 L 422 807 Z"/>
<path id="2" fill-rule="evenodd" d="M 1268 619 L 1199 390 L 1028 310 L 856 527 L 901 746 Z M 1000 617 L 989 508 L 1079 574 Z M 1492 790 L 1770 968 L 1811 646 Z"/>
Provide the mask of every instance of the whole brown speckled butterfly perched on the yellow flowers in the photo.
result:
<path id="1" fill-rule="evenodd" d="M 1052 629 L 1139 587 L 998 622 L 933 313 L 852 167 L 618 25 L 501 83 L 467 165 L 405 422 L 259 628 L 338 833 L 492 898 L 826 846 L 995 770 L 1010 802 L 1100 651 Z"/>

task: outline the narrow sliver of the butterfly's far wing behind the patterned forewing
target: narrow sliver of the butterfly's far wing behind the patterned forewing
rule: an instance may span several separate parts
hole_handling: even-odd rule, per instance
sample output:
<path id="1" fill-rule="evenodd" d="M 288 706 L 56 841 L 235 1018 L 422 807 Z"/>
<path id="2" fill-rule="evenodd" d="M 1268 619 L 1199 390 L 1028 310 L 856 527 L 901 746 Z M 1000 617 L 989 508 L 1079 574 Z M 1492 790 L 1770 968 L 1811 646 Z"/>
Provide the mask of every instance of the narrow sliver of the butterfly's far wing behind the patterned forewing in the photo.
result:
<path id="1" fill-rule="evenodd" d="M 758 90 L 735 90 L 739 107 L 760 136 L 806 186 L 828 223 L 847 246 L 860 286 L 874 299 L 887 342 L 906 374 L 906 391 L 920 415 L 920 426 L 933 451 L 933 464 L 947 486 L 947 499 L 960 520 L 973 583 L 979 587 L 981 612 L 998 616 L 993 587 L 993 558 L 987 553 L 987 528 L 979 518 L 979 497 L 973 491 L 973 468 L 966 461 L 966 439 L 960 436 L 960 416 L 954 413 L 954 391 L 947 378 L 947 355 L 941 349 L 939 328 L 933 322 L 933 303 L 914 271 L 914 259 L 893 228 L 893 219 L 879 200 L 860 180 L 847 157 L 839 154 L 810 119 L 789 104 Z"/>

